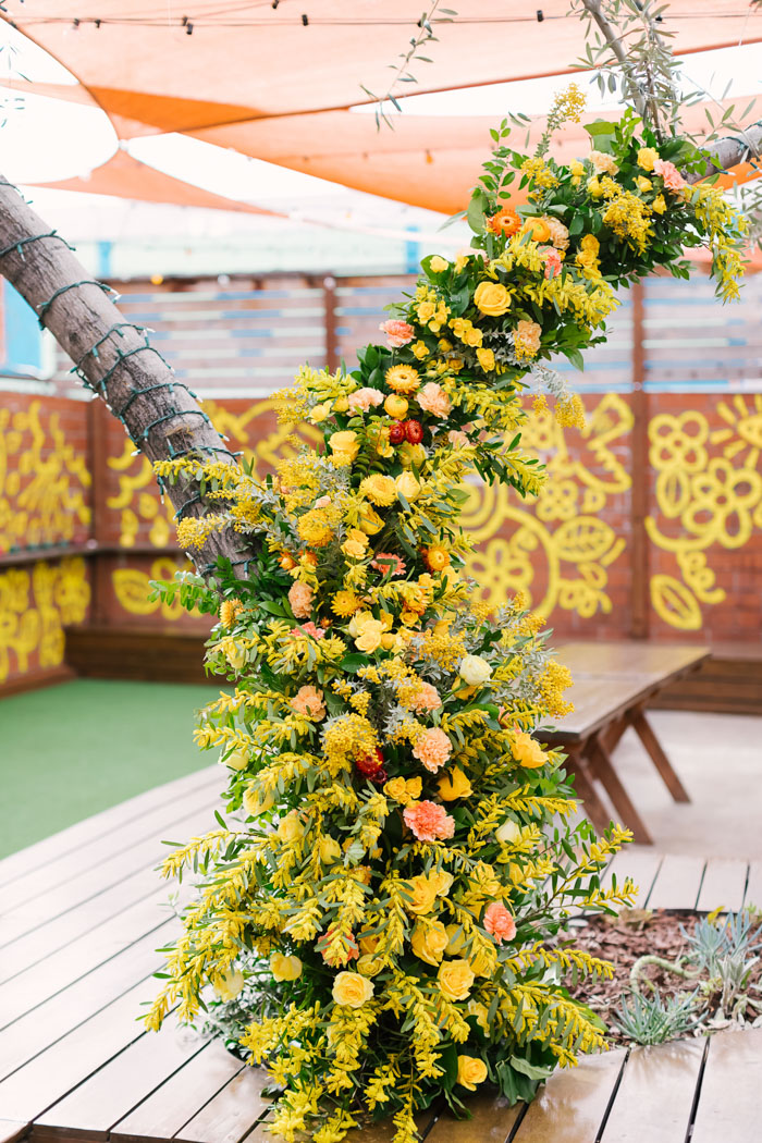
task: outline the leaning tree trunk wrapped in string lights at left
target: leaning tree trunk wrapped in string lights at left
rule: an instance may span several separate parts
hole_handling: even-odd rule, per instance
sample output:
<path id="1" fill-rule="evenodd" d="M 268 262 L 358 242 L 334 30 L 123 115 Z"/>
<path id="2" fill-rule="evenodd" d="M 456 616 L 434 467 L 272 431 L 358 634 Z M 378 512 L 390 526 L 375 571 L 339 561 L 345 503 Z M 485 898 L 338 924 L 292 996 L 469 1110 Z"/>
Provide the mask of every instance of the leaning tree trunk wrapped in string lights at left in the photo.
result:
<path id="1" fill-rule="evenodd" d="M 150 461 L 193 453 L 238 463 L 146 334 L 120 313 L 107 287 L 88 279 L 69 245 L 2 176 L 0 272 L 70 355 L 83 384 L 121 419 L 135 447 Z M 187 480 L 168 485 L 166 494 L 178 519 L 203 514 L 198 489 Z M 241 538 L 232 530 L 211 535 L 200 551 L 190 554 L 202 573 L 222 555 L 231 560 L 239 578 L 244 575 Z"/>

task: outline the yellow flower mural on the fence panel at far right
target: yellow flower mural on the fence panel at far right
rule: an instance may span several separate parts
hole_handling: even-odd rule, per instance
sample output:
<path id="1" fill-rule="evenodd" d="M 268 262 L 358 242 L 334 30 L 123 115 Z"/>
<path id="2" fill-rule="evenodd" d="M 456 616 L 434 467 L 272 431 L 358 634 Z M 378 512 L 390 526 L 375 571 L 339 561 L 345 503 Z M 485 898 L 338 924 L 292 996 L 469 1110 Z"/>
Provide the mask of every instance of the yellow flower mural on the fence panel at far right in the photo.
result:
<path id="1" fill-rule="evenodd" d="M 699 631 L 703 605 L 727 599 L 712 557 L 736 550 L 762 529 L 762 395 L 719 400 L 721 427 L 705 413 L 659 414 L 649 423 L 649 461 L 657 473 L 651 543 L 674 555 L 675 574 L 651 576 L 651 605 L 680 631 Z"/>

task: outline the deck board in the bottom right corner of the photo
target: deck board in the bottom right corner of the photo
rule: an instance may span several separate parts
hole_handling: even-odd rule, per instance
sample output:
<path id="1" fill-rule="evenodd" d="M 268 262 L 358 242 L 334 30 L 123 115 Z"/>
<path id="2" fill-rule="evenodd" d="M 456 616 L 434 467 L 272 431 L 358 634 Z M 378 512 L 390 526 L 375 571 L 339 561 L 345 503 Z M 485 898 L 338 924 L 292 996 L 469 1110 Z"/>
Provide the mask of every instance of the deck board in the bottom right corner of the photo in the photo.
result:
<path id="1" fill-rule="evenodd" d="M 759 1140 L 761 1089 L 762 1028 L 713 1036 L 691 1143 Z"/>

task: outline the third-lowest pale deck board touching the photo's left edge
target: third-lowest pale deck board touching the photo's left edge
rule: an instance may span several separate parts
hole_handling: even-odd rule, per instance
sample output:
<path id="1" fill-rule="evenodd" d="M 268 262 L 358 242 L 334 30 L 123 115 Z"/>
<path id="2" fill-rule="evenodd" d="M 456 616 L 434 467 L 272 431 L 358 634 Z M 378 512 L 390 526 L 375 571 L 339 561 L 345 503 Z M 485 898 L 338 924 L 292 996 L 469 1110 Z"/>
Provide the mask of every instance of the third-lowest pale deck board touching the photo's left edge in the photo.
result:
<path id="1" fill-rule="evenodd" d="M 162 928 L 169 919 L 167 889 L 162 888 L 106 921 L 95 933 L 73 941 L 13 981 L 0 985 L 0 1032 L 24 1013 L 63 992 L 112 957 L 122 952 L 129 956 L 131 945 Z M 153 937 L 152 943 L 157 946 L 159 937 Z"/>

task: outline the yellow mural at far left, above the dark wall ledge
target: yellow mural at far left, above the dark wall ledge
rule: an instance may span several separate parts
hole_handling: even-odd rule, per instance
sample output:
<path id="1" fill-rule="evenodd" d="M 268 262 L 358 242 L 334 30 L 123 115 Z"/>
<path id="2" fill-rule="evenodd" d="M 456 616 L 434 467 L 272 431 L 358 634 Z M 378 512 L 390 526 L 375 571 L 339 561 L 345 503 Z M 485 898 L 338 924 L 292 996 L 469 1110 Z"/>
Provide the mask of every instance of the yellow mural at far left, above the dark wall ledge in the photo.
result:
<path id="1" fill-rule="evenodd" d="M 42 402 L 0 409 L 0 552 L 65 544 L 90 520 L 90 473 Z"/>

